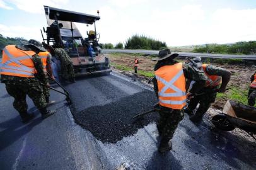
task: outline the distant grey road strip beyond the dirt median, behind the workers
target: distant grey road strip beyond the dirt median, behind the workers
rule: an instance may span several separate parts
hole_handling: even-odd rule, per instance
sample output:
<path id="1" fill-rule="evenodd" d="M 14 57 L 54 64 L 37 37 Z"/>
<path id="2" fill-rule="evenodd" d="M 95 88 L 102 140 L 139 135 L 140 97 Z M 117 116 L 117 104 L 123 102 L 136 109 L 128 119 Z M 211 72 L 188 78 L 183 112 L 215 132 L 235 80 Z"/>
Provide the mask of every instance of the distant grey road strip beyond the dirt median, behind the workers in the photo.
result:
<path id="1" fill-rule="evenodd" d="M 158 55 L 157 50 L 122 50 L 122 49 L 103 49 L 104 53 L 120 52 L 120 53 L 139 53 L 139 54 L 155 54 Z M 243 60 L 256 60 L 256 55 L 230 55 L 230 54 L 202 54 L 192 52 L 175 52 L 180 57 L 206 57 L 216 59 L 243 59 Z"/>

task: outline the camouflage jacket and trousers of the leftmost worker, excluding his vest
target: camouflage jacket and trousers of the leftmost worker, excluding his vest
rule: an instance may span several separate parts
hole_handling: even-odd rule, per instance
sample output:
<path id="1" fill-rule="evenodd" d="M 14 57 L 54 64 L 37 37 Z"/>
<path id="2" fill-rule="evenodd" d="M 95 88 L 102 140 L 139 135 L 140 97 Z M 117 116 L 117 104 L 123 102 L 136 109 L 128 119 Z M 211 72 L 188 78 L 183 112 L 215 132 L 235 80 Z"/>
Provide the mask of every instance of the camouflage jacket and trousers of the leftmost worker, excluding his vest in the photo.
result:
<path id="1" fill-rule="evenodd" d="M 1 82 L 6 84 L 8 94 L 15 98 L 13 106 L 19 113 L 26 112 L 28 109 L 26 95 L 32 99 L 38 109 L 47 105 L 42 86 L 40 86 L 40 82 L 47 83 L 42 60 L 38 55 L 33 55 L 32 60 L 37 70 L 37 75 L 34 78 L 1 75 Z"/>

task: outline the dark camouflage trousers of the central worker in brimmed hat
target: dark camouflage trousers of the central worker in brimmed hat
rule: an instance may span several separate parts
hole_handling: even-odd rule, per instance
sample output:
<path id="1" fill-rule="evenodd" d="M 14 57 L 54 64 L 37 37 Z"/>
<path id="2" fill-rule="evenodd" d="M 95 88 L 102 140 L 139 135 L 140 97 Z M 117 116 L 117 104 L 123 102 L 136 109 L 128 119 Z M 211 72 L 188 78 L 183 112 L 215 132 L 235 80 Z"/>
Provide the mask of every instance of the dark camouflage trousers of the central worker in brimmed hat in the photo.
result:
<path id="1" fill-rule="evenodd" d="M 172 110 L 160 106 L 160 119 L 158 120 L 157 128 L 162 139 L 171 140 L 173 134 L 178 127 L 178 123 L 182 121 L 183 110 Z"/>

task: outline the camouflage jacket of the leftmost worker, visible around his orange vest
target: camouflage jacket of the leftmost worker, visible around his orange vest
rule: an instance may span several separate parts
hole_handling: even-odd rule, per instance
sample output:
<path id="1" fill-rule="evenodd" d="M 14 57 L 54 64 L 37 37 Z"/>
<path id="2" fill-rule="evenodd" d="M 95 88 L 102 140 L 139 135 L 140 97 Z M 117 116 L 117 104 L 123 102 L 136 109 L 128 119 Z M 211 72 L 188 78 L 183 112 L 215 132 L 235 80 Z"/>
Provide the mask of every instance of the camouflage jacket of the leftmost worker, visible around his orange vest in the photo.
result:
<path id="1" fill-rule="evenodd" d="M 44 84 L 47 84 L 47 79 L 46 75 L 44 74 L 44 66 L 41 58 L 39 57 L 39 55 L 35 54 L 32 56 L 32 60 L 35 65 L 35 69 L 37 70 L 37 74 L 34 78 L 1 75 L 1 82 L 5 84 L 35 84 L 40 81 Z"/>

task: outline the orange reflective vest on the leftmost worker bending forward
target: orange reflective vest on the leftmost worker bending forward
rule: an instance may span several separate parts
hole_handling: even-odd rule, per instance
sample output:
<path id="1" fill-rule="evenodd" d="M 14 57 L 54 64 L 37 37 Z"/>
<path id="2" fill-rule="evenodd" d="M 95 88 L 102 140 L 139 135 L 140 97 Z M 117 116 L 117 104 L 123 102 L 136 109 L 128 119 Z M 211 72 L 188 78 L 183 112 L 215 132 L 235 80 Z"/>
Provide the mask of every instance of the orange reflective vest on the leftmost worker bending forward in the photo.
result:
<path id="1" fill-rule="evenodd" d="M 7 45 L 3 49 L 0 74 L 17 77 L 35 77 L 35 65 L 31 59 L 33 51 L 23 51 L 15 45 Z"/>

